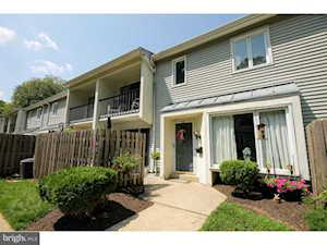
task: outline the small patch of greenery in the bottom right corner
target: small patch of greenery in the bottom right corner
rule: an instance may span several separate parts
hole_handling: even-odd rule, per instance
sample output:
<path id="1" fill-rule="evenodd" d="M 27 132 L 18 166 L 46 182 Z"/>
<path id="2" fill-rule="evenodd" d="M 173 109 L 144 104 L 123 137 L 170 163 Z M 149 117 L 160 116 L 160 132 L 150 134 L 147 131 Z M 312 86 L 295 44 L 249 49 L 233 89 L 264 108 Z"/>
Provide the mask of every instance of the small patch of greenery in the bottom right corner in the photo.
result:
<path id="1" fill-rule="evenodd" d="M 327 231 L 327 210 L 314 209 L 307 212 L 304 218 L 311 231 Z"/>

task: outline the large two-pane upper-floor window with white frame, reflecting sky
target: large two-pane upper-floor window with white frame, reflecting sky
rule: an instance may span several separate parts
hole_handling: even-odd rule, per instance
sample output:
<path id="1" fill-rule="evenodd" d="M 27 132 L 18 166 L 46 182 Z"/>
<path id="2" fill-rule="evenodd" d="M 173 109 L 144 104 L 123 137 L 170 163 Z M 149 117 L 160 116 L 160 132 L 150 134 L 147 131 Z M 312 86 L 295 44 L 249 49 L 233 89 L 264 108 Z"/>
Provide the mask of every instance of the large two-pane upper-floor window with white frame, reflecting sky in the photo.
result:
<path id="1" fill-rule="evenodd" d="M 268 28 L 233 38 L 231 47 L 234 72 L 272 63 Z"/>

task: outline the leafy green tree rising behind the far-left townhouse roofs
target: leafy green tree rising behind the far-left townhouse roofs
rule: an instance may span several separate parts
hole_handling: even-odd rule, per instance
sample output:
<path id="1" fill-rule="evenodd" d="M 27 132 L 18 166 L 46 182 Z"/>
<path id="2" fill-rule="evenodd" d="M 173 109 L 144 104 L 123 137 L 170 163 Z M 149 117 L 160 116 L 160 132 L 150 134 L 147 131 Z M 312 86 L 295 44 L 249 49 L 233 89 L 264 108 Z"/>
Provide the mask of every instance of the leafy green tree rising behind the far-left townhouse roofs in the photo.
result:
<path id="1" fill-rule="evenodd" d="M 32 78 L 15 87 L 12 103 L 15 107 L 28 107 L 64 89 L 64 81 L 56 76 Z"/>

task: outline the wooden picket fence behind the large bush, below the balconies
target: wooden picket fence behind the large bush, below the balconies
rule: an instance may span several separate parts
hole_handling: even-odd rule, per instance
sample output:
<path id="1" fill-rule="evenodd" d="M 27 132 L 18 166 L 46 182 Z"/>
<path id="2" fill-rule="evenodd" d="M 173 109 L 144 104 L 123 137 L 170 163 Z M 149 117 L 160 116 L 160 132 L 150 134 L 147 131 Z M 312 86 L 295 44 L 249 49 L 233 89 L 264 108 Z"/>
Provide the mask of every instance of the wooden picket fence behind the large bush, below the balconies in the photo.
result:
<path id="1" fill-rule="evenodd" d="M 78 166 L 109 166 L 129 151 L 141 158 L 131 174 L 119 173 L 120 186 L 143 184 L 145 134 L 128 131 L 78 131 L 41 134 L 36 137 L 34 176 L 39 179 L 60 169 Z"/>

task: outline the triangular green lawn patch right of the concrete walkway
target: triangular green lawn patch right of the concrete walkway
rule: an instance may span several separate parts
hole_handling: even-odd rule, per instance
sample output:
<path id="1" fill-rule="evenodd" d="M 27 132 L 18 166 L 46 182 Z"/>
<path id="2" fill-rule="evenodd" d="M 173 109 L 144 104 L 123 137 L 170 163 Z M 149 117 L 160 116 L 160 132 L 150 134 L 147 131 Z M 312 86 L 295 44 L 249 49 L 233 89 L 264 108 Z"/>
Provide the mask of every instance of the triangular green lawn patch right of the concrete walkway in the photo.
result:
<path id="1" fill-rule="evenodd" d="M 210 213 L 201 231 L 291 231 L 291 229 L 240 205 L 223 203 Z"/>

